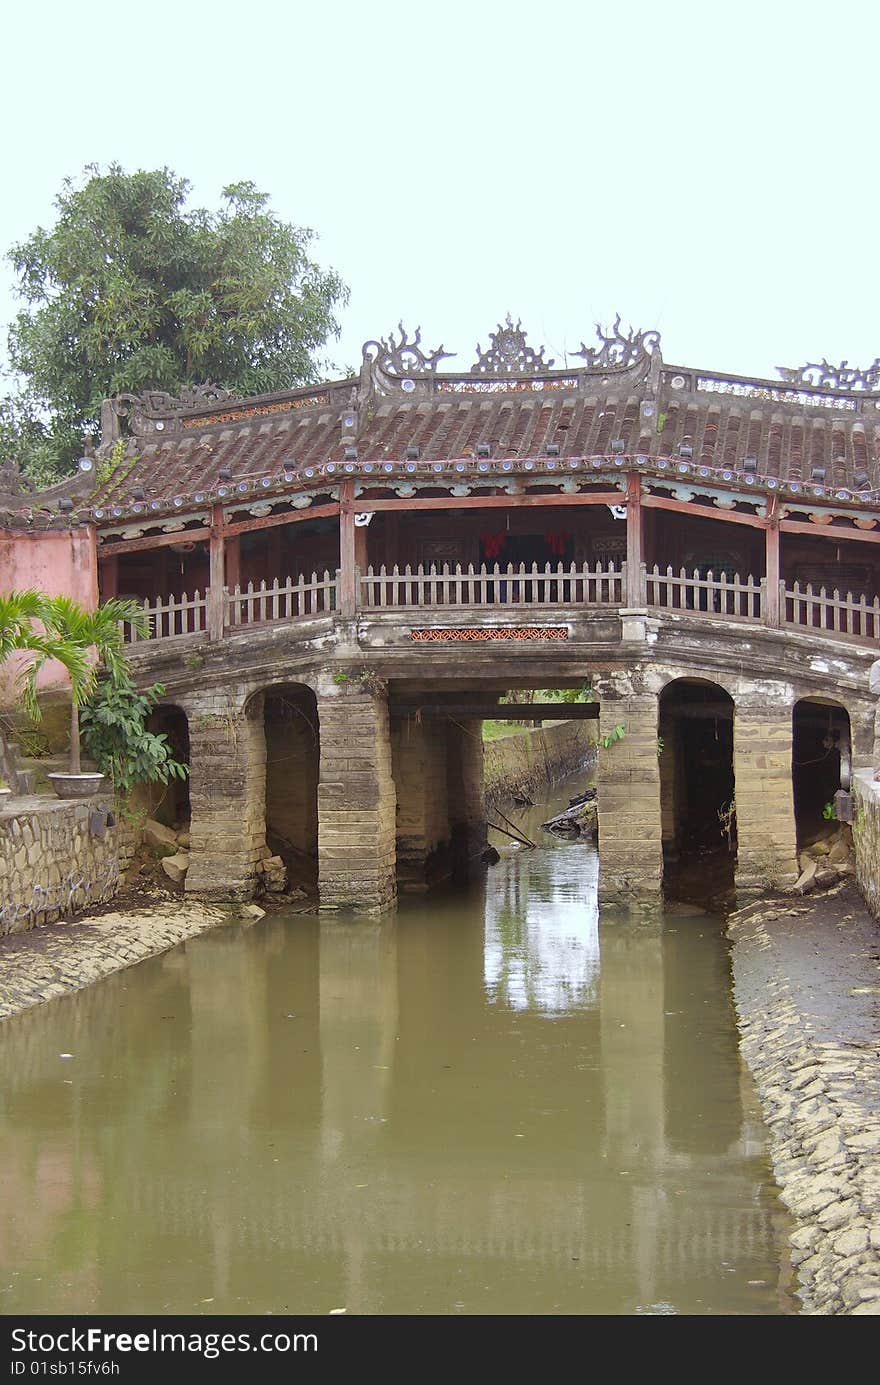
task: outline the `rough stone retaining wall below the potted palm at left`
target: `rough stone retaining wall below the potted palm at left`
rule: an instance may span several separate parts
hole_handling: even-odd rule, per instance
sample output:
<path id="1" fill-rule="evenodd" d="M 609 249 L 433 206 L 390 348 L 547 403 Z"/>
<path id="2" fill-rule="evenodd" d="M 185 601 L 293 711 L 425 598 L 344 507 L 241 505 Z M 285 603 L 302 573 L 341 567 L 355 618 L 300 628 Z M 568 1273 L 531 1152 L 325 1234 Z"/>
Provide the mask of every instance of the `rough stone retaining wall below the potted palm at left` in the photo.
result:
<path id="1" fill-rule="evenodd" d="M 111 802 L 19 798 L 0 809 L 0 936 L 112 899 L 119 884 Z"/>

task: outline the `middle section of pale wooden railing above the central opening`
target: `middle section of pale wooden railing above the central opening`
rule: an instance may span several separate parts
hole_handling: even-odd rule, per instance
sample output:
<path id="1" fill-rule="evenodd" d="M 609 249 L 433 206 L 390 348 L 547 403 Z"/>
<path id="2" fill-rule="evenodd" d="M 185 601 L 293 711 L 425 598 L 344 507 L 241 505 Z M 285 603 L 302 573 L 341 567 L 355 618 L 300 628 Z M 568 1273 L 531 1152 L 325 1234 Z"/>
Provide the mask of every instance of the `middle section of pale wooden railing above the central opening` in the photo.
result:
<path id="1" fill-rule="evenodd" d="M 360 604 L 374 609 L 413 607 L 621 607 L 626 591 L 625 565 L 509 562 L 475 568 L 442 564 L 416 568 L 367 568 L 360 578 Z"/>

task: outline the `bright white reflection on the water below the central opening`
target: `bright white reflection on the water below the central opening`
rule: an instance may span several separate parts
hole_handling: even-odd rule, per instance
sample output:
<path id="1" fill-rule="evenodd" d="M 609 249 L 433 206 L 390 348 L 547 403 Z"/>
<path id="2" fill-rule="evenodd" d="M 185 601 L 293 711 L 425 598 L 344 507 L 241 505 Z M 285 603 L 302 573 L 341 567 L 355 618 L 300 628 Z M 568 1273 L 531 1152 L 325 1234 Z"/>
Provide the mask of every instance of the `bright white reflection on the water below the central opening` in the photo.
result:
<path id="1" fill-rule="evenodd" d="M 552 1014 L 596 1004 L 596 871 L 588 846 L 503 859 L 486 886 L 484 982 L 492 1000 Z"/>

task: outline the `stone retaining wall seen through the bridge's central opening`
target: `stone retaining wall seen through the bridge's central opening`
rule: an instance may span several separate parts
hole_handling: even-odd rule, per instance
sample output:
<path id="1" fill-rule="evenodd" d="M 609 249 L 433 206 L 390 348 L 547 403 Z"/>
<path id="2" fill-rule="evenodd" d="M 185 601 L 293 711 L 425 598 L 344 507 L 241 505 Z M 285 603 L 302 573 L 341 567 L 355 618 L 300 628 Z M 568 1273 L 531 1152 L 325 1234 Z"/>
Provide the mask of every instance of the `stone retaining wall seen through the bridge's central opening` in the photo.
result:
<path id="1" fill-rule="evenodd" d="M 595 722 L 553 722 L 484 744 L 488 803 L 534 798 L 546 784 L 579 769 L 596 752 Z"/>

